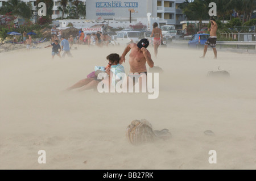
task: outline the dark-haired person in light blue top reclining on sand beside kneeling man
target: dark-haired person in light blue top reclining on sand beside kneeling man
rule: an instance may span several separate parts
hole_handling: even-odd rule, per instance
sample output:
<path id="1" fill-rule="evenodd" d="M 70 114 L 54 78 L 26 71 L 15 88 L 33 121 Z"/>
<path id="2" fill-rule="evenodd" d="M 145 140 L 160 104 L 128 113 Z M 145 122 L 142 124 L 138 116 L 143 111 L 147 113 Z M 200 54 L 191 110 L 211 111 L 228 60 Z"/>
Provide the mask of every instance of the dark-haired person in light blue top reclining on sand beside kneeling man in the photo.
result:
<path id="1" fill-rule="evenodd" d="M 119 60 L 120 60 L 119 54 L 117 53 L 109 54 L 106 57 L 106 59 L 109 61 L 109 64 L 105 68 L 106 70 L 105 73 L 108 74 L 109 78 L 104 80 L 107 80 L 109 82 L 109 87 L 110 87 L 110 83 L 112 83 L 112 79 L 110 77 L 114 77 L 115 74 L 118 74 L 118 73 L 125 73 L 125 69 L 121 64 L 119 64 Z M 89 89 L 97 90 L 98 83 L 100 83 L 101 81 L 102 79 L 97 79 L 97 77 L 85 78 L 75 83 L 75 85 L 68 87 L 67 90 L 70 91 L 72 89 L 77 89 L 77 88 L 80 88 L 79 91 L 89 90 Z"/>

